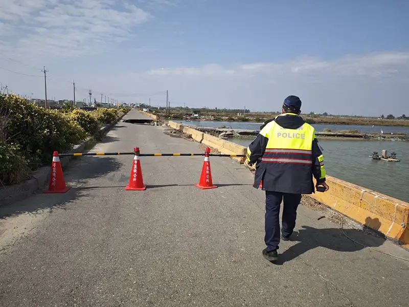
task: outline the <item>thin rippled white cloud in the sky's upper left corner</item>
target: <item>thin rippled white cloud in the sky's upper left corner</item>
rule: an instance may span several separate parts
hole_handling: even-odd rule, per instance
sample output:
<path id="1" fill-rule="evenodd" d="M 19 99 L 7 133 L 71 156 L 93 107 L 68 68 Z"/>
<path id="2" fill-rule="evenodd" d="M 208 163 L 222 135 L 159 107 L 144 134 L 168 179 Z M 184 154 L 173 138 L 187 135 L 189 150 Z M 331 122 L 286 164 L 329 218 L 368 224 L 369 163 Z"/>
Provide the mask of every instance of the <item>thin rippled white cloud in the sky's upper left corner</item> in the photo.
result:
<path id="1" fill-rule="evenodd" d="M 102 43 L 128 39 L 133 27 L 151 18 L 126 1 L 3 0 L 0 52 L 31 58 L 98 53 Z"/>

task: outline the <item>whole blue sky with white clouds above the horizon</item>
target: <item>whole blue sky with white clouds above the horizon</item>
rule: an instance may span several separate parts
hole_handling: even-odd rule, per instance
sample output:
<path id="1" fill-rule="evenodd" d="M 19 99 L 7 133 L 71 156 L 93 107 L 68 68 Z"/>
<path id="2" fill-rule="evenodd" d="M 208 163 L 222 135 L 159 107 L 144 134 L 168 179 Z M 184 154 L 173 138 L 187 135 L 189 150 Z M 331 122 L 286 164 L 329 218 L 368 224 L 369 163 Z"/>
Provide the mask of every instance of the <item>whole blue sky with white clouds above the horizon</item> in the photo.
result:
<path id="1" fill-rule="evenodd" d="M 4 0 L 13 93 L 277 111 L 409 114 L 409 2 Z M 13 72 L 28 74 L 25 76 Z M 391 104 L 393 101 L 393 104 Z"/>

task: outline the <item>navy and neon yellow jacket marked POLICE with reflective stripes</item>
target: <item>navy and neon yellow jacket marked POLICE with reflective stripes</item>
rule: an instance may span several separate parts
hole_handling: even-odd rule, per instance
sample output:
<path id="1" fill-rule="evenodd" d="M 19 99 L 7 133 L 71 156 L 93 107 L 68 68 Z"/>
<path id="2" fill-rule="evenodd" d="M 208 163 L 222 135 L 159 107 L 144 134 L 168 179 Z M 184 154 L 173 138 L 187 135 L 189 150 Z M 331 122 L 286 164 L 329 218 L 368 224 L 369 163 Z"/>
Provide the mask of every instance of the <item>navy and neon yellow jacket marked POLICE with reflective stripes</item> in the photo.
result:
<path id="1" fill-rule="evenodd" d="M 294 115 L 297 116 L 291 113 L 279 116 Z M 304 123 L 297 129 L 289 129 L 271 121 L 261 129 L 257 138 L 256 143 L 247 147 L 248 162 L 261 160 L 256 166 L 253 187 L 258 188 L 262 182 L 263 190 L 310 194 L 314 192 L 312 177 L 325 179 L 324 157 L 322 153 L 315 157 L 313 152 L 315 129 L 311 125 Z M 251 148 L 256 151 L 254 158 Z M 317 174 L 317 162 L 320 174 Z"/>

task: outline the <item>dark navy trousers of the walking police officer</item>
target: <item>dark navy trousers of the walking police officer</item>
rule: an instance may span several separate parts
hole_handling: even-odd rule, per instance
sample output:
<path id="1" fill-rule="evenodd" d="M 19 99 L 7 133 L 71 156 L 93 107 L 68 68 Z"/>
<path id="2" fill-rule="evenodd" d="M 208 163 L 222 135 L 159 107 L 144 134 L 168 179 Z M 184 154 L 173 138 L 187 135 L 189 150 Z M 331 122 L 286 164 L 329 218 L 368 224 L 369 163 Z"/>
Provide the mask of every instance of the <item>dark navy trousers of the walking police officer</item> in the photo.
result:
<path id="1" fill-rule="evenodd" d="M 279 248 L 280 243 L 280 205 L 284 199 L 283 228 L 284 236 L 291 235 L 296 227 L 297 208 L 301 202 L 301 194 L 265 191 L 265 245 L 267 252 Z"/>

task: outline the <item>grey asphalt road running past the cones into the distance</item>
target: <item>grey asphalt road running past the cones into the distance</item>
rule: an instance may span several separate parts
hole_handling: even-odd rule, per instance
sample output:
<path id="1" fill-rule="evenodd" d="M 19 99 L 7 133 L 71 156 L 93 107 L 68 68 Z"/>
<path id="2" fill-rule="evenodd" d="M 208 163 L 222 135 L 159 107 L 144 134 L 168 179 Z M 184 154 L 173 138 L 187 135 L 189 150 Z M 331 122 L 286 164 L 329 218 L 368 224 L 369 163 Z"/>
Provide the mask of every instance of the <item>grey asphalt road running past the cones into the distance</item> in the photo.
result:
<path id="1" fill-rule="evenodd" d="M 202 152 L 163 127 L 122 122 L 93 151 L 134 146 Z M 64 169 L 66 194 L 0 206 L 1 306 L 407 306 L 409 262 L 305 206 L 281 261 L 265 260 L 264 193 L 232 159 L 212 157 L 219 188 L 200 190 L 203 157 L 144 157 L 148 189 L 125 191 L 132 158 L 80 157 Z"/>

